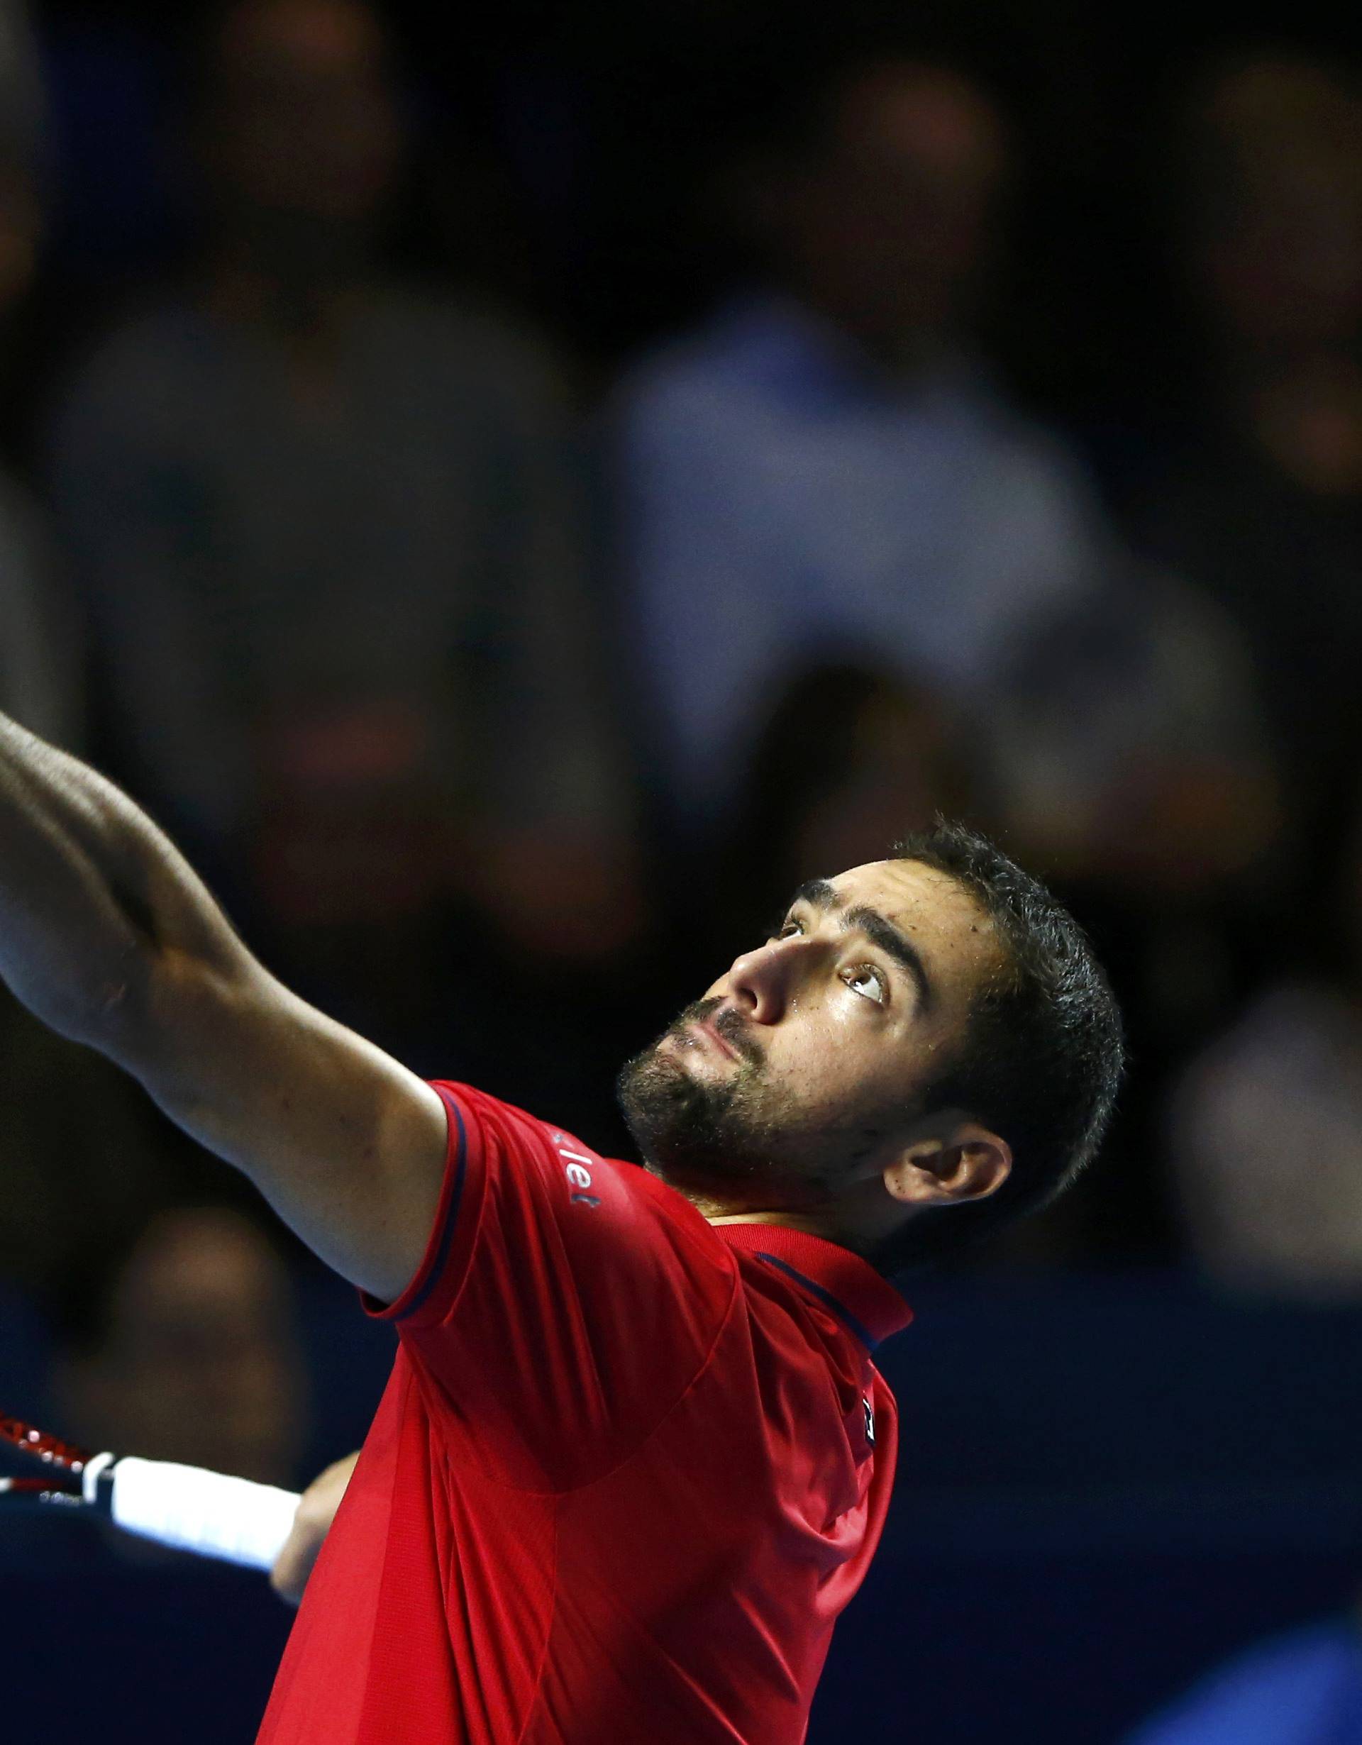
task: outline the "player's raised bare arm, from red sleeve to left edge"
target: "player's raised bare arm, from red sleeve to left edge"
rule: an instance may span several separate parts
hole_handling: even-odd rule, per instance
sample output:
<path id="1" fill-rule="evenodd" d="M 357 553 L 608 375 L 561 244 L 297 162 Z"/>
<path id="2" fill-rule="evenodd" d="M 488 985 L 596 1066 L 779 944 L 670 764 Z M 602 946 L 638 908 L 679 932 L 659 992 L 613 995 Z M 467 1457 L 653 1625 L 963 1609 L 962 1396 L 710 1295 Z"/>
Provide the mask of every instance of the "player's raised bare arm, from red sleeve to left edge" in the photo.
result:
<path id="1" fill-rule="evenodd" d="M 5 715 L 0 975 L 244 1171 L 337 1272 L 402 1293 L 440 1195 L 440 1098 L 269 975 L 126 794 Z"/>

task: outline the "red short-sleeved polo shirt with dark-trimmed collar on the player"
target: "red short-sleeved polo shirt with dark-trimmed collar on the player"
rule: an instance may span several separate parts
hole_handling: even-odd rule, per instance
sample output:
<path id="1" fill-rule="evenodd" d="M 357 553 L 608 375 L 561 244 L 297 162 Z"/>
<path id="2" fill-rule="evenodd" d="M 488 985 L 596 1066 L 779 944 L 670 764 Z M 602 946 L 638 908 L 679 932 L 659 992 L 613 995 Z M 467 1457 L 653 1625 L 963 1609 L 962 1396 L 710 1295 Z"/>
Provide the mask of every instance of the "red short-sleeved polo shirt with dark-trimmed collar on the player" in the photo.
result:
<path id="1" fill-rule="evenodd" d="M 798 1745 L 880 1537 L 910 1319 L 463 1085 L 393 1375 L 262 1745 Z"/>

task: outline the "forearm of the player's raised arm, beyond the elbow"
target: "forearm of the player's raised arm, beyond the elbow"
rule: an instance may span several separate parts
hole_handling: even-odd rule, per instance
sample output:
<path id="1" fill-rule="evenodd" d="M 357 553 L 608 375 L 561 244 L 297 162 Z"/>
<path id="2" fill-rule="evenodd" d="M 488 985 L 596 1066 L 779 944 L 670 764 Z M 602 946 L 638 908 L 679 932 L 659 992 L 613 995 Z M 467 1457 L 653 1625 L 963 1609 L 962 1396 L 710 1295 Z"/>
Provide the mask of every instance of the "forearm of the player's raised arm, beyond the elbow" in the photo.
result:
<path id="1" fill-rule="evenodd" d="M 112 782 L 0 715 L 0 975 L 63 1035 L 110 1049 L 159 958 L 222 951 L 208 890 Z"/>

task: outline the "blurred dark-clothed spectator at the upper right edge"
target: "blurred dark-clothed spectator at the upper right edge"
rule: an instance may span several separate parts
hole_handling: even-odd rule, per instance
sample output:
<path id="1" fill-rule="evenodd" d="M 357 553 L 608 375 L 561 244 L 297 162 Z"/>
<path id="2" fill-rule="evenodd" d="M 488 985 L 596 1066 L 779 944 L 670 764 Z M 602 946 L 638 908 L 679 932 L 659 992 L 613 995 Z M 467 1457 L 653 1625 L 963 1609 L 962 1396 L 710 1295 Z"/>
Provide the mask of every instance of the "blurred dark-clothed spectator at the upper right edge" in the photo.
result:
<path id="1" fill-rule="evenodd" d="M 1177 145 L 1205 379 L 1145 525 L 1247 639 L 1308 866 L 1357 722 L 1362 87 L 1324 61 L 1222 61 Z"/>

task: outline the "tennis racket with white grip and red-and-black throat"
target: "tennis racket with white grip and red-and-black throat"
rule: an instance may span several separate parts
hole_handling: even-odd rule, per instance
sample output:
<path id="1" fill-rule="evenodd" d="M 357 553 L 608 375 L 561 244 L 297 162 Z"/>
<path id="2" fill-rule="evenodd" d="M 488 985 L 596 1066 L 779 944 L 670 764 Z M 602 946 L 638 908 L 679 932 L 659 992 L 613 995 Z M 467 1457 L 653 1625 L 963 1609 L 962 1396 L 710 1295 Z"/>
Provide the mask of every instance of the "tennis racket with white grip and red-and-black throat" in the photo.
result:
<path id="1" fill-rule="evenodd" d="M 0 1413 L 5 1448 L 19 1473 L 0 1476 L 0 1518 L 12 1509 L 86 1511 L 141 1539 L 246 1569 L 272 1567 L 299 1506 L 295 1490 L 175 1461 L 91 1454 Z"/>

